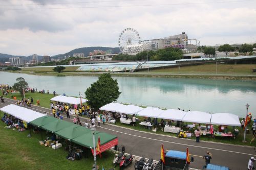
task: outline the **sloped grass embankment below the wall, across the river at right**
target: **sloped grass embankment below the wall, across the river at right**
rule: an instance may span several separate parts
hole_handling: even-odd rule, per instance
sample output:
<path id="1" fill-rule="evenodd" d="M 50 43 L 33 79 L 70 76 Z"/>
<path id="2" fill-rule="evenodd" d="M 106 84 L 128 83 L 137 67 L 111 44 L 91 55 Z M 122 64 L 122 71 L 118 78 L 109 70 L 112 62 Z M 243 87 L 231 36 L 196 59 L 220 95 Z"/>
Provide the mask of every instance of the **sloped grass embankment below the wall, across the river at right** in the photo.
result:
<path id="1" fill-rule="evenodd" d="M 217 73 L 218 74 L 252 74 L 252 69 L 256 68 L 256 64 L 218 64 Z M 147 71 L 147 70 L 146 70 Z M 150 70 L 151 73 L 159 72 L 202 72 L 202 73 L 216 73 L 216 64 L 202 64 L 193 66 L 183 66 L 174 68 L 163 68 L 163 69 L 153 69 Z"/>

